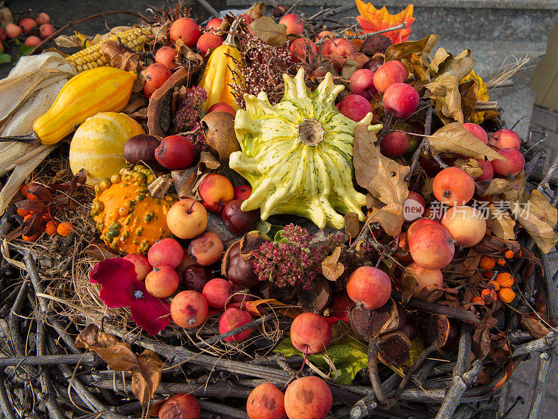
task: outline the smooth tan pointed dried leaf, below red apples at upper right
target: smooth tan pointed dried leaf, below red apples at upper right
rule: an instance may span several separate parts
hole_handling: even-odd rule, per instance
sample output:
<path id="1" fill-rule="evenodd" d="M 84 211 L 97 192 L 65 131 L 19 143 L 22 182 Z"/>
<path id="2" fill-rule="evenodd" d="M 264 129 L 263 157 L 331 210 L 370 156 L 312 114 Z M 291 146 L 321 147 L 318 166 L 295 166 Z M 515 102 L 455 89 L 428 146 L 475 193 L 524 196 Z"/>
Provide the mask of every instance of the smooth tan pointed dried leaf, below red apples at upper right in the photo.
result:
<path id="1" fill-rule="evenodd" d="M 474 159 L 505 160 L 494 149 L 469 133 L 459 122 L 452 122 L 439 128 L 428 137 L 430 151 L 435 154 L 460 154 Z"/>

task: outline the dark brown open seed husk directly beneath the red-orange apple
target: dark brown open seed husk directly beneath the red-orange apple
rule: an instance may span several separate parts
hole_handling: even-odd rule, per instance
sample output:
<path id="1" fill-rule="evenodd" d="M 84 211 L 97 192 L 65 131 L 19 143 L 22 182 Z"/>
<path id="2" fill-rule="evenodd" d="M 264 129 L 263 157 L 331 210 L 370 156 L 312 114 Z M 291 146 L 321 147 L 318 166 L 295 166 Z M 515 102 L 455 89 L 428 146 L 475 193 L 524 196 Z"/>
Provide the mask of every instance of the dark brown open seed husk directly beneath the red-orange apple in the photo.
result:
<path id="1" fill-rule="evenodd" d="M 400 323 L 398 308 L 392 298 L 375 310 L 357 304 L 349 312 L 349 322 L 356 335 L 365 341 L 368 341 L 370 337 L 397 330 L 400 325 L 405 324 Z"/>

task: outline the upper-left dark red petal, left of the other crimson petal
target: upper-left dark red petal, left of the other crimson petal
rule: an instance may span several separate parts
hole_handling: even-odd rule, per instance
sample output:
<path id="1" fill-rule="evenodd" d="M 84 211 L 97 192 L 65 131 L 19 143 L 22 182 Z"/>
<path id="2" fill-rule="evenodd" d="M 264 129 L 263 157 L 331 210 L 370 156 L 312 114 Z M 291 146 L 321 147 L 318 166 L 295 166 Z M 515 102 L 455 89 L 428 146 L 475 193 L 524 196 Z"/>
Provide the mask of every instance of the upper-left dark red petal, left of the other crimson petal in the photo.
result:
<path id="1" fill-rule="evenodd" d="M 91 284 L 101 284 L 100 299 L 107 307 L 126 307 L 134 300 L 135 265 L 123 258 L 101 260 L 89 273 Z"/>

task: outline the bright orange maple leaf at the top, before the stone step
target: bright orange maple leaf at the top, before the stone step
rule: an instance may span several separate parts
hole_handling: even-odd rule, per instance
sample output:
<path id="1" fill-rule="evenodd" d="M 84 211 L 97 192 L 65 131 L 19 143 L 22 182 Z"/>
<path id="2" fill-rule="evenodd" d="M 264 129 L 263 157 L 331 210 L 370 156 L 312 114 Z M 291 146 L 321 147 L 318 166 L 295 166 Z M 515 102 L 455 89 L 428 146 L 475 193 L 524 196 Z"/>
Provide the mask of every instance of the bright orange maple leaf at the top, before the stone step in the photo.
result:
<path id="1" fill-rule="evenodd" d="M 382 29 L 394 27 L 403 22 L 407 22 L 407 29 L 395 29 L 383 35 L 391 39 L 392 43 L 402 43 L 407 41 L 409 34 L 411 34 L 411 26 L 414 22 L 413 5 L 409 4 L 397 15 L 390 15 L 386 7 L 377 9 L 372 6 L 372 3 L 365 4 L 361 0 L 354 0 L 356 7 L 359 8 L 360 16 L 356 16 L 356 20 L 361 24 L 361 28 L 365 32 L 376 32 Z"/>

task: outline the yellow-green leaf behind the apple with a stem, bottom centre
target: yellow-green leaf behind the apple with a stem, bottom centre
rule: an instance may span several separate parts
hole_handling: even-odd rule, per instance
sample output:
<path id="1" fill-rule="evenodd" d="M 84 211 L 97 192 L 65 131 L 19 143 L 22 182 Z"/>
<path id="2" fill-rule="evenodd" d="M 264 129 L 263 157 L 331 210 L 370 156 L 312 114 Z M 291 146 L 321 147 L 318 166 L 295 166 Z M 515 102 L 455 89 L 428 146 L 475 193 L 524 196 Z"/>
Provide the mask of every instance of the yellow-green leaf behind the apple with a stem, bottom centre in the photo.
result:
<path id="1" fill-rule="evenodd" d="M 368 347 L 347 332 L 340 335 L 340 327 L 337 323 L 333 325 L 332 329 L 333 339 L 329 346 L 322 353 L 308 355 L 308 360 L 317 367 L 329 369 L 329 364 L 324 358 L 324 355 L 327 354 L 337 369 L 338 375 L 335 383 L 352 384 L 356 373 L 368 366 Z M 340 335 L 340 337 L 335 338 L 335 335 Z M 303 355 L 292 346 L 289 337 L 283 339 L 274 351 L 285 356 Z"/>

